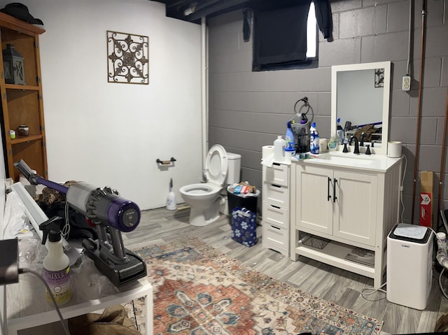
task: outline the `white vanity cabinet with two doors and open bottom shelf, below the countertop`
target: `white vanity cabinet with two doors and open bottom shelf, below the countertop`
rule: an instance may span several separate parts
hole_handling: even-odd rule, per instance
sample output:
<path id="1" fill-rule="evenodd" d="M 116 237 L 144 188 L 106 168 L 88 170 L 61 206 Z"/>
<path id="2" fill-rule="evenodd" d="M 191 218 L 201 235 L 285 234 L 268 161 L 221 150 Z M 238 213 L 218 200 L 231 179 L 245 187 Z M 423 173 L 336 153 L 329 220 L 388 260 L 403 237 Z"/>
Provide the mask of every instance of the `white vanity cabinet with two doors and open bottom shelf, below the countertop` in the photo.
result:
<path id="1" fill-rule="evenodd" d="M 401 159 L 386 169 L 293 162 L 290 175 L 290 258 L 309 257 L 374 279 L 386 268 L 386 238 L 398 223 Z M 302 234 L 301 234 L 302 233 Z M 325 248 L 302 243 L 303 233 L 330 240 Z M 345 259 L 353 248 L 374 252 L 374 266 Z"/>

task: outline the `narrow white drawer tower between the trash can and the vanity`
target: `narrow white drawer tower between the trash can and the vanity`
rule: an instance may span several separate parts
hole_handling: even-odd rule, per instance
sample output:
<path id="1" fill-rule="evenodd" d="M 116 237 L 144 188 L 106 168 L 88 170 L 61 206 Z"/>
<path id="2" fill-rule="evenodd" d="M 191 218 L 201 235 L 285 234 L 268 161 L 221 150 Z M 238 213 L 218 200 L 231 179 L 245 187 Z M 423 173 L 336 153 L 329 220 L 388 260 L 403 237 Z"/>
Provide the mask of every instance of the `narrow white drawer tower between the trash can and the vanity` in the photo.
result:
<path id="1" fill-rule="evenodd" d="M 262 167 L 262 246 L 289 256 L 290 162 Z"/>

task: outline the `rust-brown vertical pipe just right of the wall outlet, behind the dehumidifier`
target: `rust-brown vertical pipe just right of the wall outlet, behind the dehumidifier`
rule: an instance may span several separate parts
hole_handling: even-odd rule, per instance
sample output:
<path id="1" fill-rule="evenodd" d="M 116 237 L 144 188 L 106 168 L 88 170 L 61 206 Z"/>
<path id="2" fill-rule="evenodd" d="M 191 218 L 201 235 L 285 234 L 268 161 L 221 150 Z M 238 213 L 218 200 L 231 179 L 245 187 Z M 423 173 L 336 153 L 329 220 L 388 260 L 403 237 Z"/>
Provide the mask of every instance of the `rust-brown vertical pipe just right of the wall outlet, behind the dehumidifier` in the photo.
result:
<path id="1" fill-rule="evenodd" d="M 426 26 L 426 0 L 423 0 L 421 9 L 421 54 L 420 54 L 420 78 L 419 78 L 419 104 L 417 113 L 417 131 L 415 138 L 415 159 L 414 159 L 414 187 L 412 190 L 412 211 L 411 224 L 414 223 L 414 208 L 415 208 L 415 190 L 416 183 L 419 181 L 417 174 L 419 173 L 419 145 L 420 145 L 420 119 L 421 119 L 421 95 L 423 91 L 423 66 L 425 63 L 425 26 Z"/>

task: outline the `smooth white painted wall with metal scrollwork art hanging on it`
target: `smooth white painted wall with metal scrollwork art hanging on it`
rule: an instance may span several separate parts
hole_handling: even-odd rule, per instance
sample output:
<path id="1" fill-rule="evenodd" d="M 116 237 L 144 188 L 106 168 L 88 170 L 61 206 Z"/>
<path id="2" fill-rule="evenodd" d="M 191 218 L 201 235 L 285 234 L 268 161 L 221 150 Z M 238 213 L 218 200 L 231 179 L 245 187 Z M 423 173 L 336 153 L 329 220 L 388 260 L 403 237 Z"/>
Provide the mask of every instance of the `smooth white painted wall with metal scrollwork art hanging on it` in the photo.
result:
<path id="1" fill-rule="evenodd" d="M 0 0 L 0 8 L 11 1 Z M 49 179 L 116 188 L 165 206 L 202 175 L 200 25 L 148 0 L 24 0 L 40 36 Z M 149 38 L 149 85 L 108 83 L 106 31 Z M 160 169 L 156 159 L 174 157 Z M 32 168 L 32 166 L 31 166 Z"/>

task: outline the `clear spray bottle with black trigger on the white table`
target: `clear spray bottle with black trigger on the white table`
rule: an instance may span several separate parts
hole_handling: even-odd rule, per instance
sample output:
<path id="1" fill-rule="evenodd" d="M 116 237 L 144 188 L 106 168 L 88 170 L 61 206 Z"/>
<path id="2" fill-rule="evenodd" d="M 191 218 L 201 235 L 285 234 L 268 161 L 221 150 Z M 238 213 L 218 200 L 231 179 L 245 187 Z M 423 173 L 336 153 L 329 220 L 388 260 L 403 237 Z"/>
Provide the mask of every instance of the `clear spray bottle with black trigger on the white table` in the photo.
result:
<path id="1" fill-rule="evenodd" d="M 42 244 L 45 244 L 48 254 L 43 259 L 43 277 L 50 287 L 45 297 L 52 302 L 50 294 L 55 298 L 59 306 L 66 304 L 71 298 L 70 288 L 70 261 L 69 257 L 62 250 L 61 228 L 64 221 L 61 217 L 55 216 L 39 225 L 43 231 Z"/>

